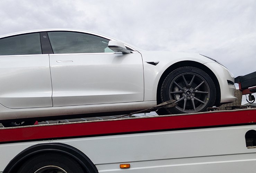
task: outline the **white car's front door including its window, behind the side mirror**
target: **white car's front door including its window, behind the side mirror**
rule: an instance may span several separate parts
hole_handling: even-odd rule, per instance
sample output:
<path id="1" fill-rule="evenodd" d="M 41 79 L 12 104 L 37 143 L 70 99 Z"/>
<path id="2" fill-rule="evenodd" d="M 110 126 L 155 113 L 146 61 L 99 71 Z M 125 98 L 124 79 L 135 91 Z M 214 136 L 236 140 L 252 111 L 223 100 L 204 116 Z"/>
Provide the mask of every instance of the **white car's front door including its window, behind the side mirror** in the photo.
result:
<path id="1" fill-rule="evenodd" d="M 53 106 L 143 101 L 140 53 L 115 53 L 103 37 L 48 32 Z"/>

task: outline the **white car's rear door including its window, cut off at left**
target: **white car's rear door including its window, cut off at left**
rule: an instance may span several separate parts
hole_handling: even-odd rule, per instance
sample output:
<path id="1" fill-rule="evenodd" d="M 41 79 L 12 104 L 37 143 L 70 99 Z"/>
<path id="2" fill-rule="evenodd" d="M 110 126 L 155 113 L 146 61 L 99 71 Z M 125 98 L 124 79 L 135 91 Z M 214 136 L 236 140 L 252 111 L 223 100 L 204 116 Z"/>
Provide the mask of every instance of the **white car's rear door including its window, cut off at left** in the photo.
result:
<path id="1" fill-rule="evenodd" d="M 52 107 L 49 55 L 39 33 L 0 39 L 0 103 L 7 108 Z"/>

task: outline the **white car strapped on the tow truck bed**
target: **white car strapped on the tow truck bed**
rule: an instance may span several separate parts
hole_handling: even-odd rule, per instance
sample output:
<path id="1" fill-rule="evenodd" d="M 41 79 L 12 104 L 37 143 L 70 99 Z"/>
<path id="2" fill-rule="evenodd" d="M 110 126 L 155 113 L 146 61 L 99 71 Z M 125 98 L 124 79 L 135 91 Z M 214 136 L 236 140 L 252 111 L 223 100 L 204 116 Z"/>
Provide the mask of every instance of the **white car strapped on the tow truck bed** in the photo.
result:
<path id="1" fill-rule="evenodd" d="M 45 29 L 0 37 L 0 122 L 121 114 L 177 100 L 159 115 L 233 102 L 234 76 L 195 53 L 144 51 L 82 30 Z M 86 115 L 84 115 L 86 114 Z"/>

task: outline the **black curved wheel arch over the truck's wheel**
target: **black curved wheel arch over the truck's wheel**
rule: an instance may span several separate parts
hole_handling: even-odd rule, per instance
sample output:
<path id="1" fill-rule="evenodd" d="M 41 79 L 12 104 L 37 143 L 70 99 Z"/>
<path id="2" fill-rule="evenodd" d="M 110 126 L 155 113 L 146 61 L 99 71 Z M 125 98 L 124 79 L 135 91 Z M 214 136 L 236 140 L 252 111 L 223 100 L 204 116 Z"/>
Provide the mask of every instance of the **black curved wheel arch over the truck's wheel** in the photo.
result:
<path id="1" fill-rule="evenodd" d="M 75 147 L 63 143 L 36 144 L 30 146 L 16 155 L 6 166 L 3 173 L 16 173 L 20 165 L 29 160 L 29 158 L 47 152 L 61 153 L 70 156 L 81 165 L 84 171 L 88 173 L 98 173 L 96 166 L 84 153 Z"/>

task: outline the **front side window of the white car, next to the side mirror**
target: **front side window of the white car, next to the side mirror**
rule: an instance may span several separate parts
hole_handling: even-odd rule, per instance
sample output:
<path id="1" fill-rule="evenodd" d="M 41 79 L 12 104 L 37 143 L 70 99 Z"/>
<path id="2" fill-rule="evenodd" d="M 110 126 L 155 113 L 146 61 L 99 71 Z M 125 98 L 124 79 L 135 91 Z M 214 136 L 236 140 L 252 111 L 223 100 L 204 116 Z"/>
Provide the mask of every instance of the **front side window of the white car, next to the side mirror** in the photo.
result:
<path id="1" fill-rule="evenodd" d="M 48 32 L 53 53 L 106 53 L 114 52 L 108 48 L 108 39 L 95 35 L 71 31 Z"/>

